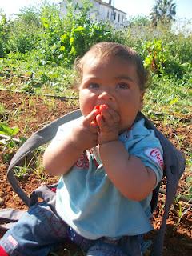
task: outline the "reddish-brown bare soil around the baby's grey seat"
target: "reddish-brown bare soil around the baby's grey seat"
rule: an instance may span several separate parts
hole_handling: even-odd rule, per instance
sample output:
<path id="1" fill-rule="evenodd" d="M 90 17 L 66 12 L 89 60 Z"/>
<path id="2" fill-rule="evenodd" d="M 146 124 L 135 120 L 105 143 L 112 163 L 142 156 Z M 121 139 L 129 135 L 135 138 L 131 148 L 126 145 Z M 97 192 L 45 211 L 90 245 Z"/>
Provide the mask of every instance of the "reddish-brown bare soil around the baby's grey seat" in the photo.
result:
<path id="1" fill-rule="evenodd" d="M 49 99 L 48 99 L 49 100 Z M 18 126 L 20 132 L 17 137 L 23 136 L 23 131 L 26 138 L 30 136 L 34 131 L 38 130 L 46 123 L 53 121 L 54 119 L 70 112 L 71 110 L 77 109 L 77 104 L 62 102 L 58 99 L 54 102 L 54 110 L 50 110 L 50 105 L 47 104 L 42 98 L 29 96 L 26 94 L 13 94 L 6 91 L 0 91 L 0 102 L 6 106 L 8 114 L 2 114 L 0 117 L 2 121 L 9 121 L 9 126 Z M 51 103 L 51 102 L 50 102 Z M 19 111 L 18 118 L 10 118 L 9 113 L 15 113 L 15 117 Z M 191 116 L 186 117 L 189 121 Z M 178 128 L 171 126 L 162 126 L 157 120 L 154 120 L 155 125 L 158 126 L 159 130 L 162 130 L 166 134 L 167 138 L 174 143 L 175 146 L 179 146 L 181 150 L 190 148 L 192 144 L 192 125 L 189 122 L 182 122 Z M 176 136 L 175 136 L 176 135 Z M 182 145 L 178 145 L 178 136 L 183 136 Z M 3 161 L 3 154 L 5 151 L 0 145 L 0 209 L 3 208 L 15 208 L 15 209 L 26 209 L 26 206 L 18 198 L 18 195 L 14 193 L 10 184 L 6 180 L 6 170 L 9 162 Z M 188 186 L 186 184 L 186 177 L 189 172 L 183 174 L 178 187 L 178 194 L 185 194 Z M 22 188 L 27 194 L 30 194 L 36 187 L 42 185 L 42 183 L 50 184 L 56 181 L 46 175 L 43 181 L 35 174 L 31 174 L 30 177 L 22 178 L 19 180 Z M 165 187 L 163 182 L 162 187 Z M 154 231 L 149 234 L 149 238 L 154 238 L 157 233 L 162 220 L 163 207 L 166 196 L 160 194 L 160 200 L 158 203 L 157 210 L 154 213 Z M 186 214 L 179 219 L 179 205 L 184 206 L 185 202 L 180 201 L 174 202 L 171 207 L 169 218 L 167 219 L 166 238 L 163 247 L 163 256 L 190 256 L 192 255 L 192 212 L 190 205 L 185 207 L 187 210 Z M 178 223 L 179 221 L 179 223 Z"/>

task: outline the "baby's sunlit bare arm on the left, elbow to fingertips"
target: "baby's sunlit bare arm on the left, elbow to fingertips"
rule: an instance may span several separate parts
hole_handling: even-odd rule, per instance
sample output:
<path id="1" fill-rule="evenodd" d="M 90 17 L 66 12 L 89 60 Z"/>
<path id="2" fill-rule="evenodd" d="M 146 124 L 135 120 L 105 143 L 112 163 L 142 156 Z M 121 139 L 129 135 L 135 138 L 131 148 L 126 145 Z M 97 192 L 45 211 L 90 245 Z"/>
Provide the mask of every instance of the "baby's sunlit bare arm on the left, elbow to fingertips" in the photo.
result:
<path id="1" fill-rule="evenodd" d="M 43 155 L 43 166 L 52 175 L 66 174 L 84 150 L 98 145 L 98 126 L 91 126 L 97 110 L 74 122 L 74 127 L 58 143 L 50 143 Z"/>

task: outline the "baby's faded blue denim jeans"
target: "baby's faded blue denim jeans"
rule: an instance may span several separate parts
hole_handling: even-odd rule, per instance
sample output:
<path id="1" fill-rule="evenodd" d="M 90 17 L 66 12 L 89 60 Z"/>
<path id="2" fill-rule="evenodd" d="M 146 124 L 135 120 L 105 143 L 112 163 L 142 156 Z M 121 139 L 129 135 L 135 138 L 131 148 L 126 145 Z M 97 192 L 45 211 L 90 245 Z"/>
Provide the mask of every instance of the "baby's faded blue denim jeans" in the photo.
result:
<path id="1" fill-rule="evenodd" d="M 107 238 L 83 238 L 44 202 L 31 206 L 13 228 L 6 232 L 0 240 L 0 246 L 10 256 L 46 256 L 66 239 L 81 246 L 87 256 L 142 255 L 138 236 L 124 236 L 114 241 Z"/>

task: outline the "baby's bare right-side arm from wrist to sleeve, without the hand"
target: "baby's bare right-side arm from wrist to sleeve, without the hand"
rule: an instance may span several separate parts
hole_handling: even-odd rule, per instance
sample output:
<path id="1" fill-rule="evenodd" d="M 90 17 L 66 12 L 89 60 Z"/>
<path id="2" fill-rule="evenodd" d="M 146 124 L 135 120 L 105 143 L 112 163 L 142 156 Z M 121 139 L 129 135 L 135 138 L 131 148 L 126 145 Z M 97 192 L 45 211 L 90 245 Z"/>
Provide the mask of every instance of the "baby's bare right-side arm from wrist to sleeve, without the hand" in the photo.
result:
<path id="1" fill-rule="evenodd" d="M 108 177 L 126 198 L 141 201 L 154 190 L 154 171 L 144 166 L 139 158 L 129 155 L 122 142 L 106 142 L 99 149 Z"/>

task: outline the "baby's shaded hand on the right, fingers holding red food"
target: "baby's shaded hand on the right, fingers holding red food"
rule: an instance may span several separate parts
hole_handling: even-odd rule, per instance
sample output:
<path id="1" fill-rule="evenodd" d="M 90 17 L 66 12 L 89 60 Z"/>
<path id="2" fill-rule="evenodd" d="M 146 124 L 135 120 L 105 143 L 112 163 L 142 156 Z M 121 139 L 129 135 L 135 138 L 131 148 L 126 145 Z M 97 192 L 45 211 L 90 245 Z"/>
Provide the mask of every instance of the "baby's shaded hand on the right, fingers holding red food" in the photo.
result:
<path id="1" fill-rule="evenodd" d="M 118 112 L 105 104 L 95 108 L 99 110 L 95 118 L 99 127 L 98 144 L 117 140 L 120 130 Z"/>

